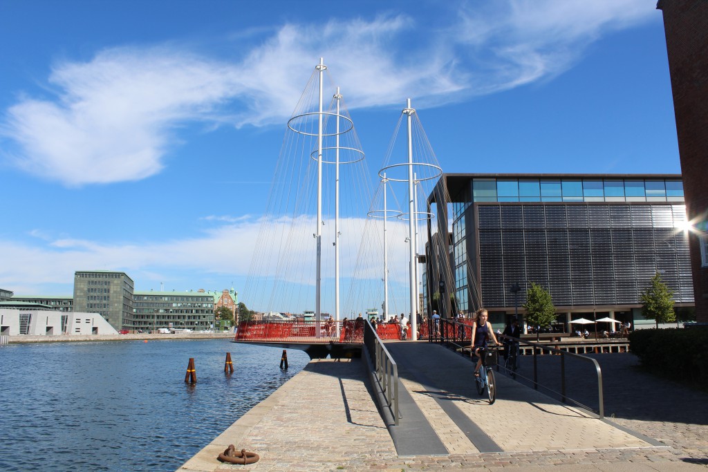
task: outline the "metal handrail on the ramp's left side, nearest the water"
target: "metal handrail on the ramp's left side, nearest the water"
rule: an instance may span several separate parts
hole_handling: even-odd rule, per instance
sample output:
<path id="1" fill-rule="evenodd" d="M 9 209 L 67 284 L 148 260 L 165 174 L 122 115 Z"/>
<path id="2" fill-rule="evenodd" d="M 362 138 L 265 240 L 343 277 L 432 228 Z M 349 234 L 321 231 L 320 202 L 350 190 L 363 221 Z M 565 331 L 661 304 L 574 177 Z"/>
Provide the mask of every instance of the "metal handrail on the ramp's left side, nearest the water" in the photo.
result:
<path id="1" fill-rule="evenodd" d="M 399 379 L 398 365 L 389 350 L 386 349 L 376 330 L 367 320 L 364 323 L 364 350 L 375 366 L 375 377 L 381 389 L 385 407 L 391 410 L 394 424 L 399 425 Z M 384 405 L 382 405 L 384 406 Z"/>

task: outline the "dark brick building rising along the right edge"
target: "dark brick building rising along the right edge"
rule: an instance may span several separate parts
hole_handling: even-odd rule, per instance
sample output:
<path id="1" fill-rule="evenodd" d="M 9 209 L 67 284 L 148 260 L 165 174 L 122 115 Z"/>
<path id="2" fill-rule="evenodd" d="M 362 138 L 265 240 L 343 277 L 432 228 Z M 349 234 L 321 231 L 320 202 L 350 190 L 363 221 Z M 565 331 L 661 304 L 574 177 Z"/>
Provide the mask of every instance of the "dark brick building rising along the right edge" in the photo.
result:
<path id="1" fill-rule="evenodd" d="M 659 0 L 676 115 L 696 319 L 708 323 L 708 1 Z"/>

